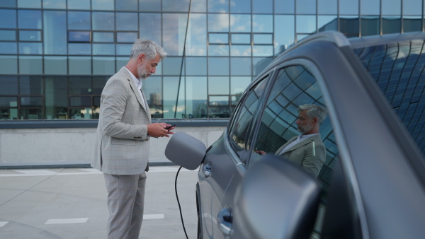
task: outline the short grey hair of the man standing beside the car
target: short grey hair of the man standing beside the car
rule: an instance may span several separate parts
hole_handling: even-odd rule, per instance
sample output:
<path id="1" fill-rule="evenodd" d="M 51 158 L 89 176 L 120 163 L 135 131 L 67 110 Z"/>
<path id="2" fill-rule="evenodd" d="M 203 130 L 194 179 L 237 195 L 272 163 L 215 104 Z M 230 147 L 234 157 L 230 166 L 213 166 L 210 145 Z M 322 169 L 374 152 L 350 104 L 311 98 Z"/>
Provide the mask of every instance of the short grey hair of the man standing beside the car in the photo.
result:
<path id="1" fill-rule="evenodd" d="M 164 52 L 164 49 L 157 45 L 156 42 L 152 40 L 137 39 L 132 45 L 130 59 L 137 59 L 142 53 L 145 54 L 148 61 L 157 57 L 157 54 L 159 54 L 160 57 L 159 61 L 162 61 L 162 59 L 166 57 L 166 52 Z"/>

